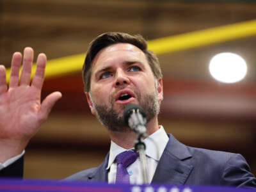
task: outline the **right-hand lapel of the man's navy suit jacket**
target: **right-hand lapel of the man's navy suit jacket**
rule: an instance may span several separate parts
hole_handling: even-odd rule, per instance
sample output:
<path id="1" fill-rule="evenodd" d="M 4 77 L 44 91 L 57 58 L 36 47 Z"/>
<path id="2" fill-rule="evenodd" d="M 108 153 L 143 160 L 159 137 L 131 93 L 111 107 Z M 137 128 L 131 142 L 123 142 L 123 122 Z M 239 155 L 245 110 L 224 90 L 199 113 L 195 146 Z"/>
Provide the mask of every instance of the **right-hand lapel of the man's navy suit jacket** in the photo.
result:
<path id="1" fill-rule="evenodd" d="M 184 184 L 193 165 L 186 145 L 177 141 L 172 134 L 159 160 L 152 183 Z"/>

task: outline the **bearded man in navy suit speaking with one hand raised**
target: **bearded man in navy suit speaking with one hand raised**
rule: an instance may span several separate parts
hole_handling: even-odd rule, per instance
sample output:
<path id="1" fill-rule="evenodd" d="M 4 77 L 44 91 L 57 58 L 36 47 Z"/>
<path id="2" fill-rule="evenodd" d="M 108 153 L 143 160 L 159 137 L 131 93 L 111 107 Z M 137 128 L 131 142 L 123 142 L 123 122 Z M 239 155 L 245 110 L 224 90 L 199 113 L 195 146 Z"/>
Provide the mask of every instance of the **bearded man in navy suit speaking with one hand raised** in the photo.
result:
<path id="1" fill-rule="evenodd" d="M 24 148 L 38 127 L 47 119 L 60 92 L 51 93 L 40 103 L 44 81 L 45 54 L 39 54 L 31 84 L 33 49 L 24 49 L 19 81 L 20 53 L 14 53 L 9 88 L 4 67 L 0 67 L 0 162 L 2 176 L 22 173 Z M 256 179 L 239 154 L 193 148 L 166 134 L 157 115 L 163 100 L 163 80 L 156 56 L 147 50 L 141 36 L 104 33 L 90 44 L 83 66 L 84 92 L 92 111 L 106 126 L 111 146 L 104 162 L 68 177 L 68 180 L 122 182 L 119 154 L 134 146 L 136 134 L 125 125 L 127 104 L 139 104 L 147 115 L 148 180 L 150 183 L 227 185 L 255 187 Z M 8 111 L 8 113 L 6 113 Z M 156 145 L 152 142 L 155 141 Z M 157 148 L 157 150 L 156 150 Z M 126 156 L 126 154 L 125 154 Z M 132 155 L 133 156 L 133 155 Z M 127 159 L 131 159 L 130 157 Z M 143 183 L 140 159 L 133 158 L 125 168 L 125 182 Z M 127 176 L 127 173 L 129 175 Z"/>

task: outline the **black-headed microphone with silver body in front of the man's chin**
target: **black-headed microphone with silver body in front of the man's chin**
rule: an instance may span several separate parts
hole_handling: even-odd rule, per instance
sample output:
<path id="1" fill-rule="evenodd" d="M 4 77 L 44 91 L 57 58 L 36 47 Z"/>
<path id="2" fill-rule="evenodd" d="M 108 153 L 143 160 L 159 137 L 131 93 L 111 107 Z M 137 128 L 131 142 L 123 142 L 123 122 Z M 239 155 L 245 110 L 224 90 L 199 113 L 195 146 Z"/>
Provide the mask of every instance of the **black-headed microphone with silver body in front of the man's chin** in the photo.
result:
<path id="1" fill-rule="evenodd" d="M 129 104 L 124 109 L 124 120 L 132 131 L 140 134 L 141 136 L 147 136 L 147 118 L 146 113 L 141 106 L 136 104 Z"/>

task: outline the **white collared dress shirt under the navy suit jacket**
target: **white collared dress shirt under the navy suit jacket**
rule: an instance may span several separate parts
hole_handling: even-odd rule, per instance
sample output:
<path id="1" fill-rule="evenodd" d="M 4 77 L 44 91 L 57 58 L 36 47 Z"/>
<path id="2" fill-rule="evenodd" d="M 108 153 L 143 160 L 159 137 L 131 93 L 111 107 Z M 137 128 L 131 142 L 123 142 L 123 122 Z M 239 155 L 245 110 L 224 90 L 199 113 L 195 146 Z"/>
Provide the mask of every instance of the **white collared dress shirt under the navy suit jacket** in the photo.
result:
<path id="1" fill-rule="evenodd" d="M 163 126 L 160 126 L 159 129 L 148 136 L 144 140 L 146 145 L 146 157 L 147 157 L 147 166 L 148 166 L 148 180 L 152 182 L 154 173 L 156 171 L 157 163 L 159 162 L 160 157 L 163 154 L 164 148 L 168 143 L 168 136 L 164 131 Z M 132 148 L 131 148 L 132 149 Z M 130 150 L 131 150 L 130 149 Z M 114 163 L 115 158 L 121 152 L 124 152 L 125 148 L 120 147 L 113 141 L 111 141 L 110 151 L 109 151 L 109 161 L 108 161 L 108 182 L 115 183 L 116 180 L 116 163 Z M 143 184 L 143 173 L 141 170 L 141 161 L 138 158 L 134 163 L 127 167 L 127 172 L 130 175 L 130 184 Z"/>

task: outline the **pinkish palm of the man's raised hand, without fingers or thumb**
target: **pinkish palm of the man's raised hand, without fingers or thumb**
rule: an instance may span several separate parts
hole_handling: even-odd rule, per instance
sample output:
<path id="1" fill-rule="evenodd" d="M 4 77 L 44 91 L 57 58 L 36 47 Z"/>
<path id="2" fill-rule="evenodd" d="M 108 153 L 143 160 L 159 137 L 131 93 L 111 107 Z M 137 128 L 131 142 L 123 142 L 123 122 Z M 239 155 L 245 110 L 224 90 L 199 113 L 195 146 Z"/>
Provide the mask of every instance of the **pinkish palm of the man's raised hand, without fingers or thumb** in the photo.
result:
<path id="1" fill-rule="evenodd" d="M 40 90 L 22 85 L 0 95 L 2 139 L 31 137 L 42 122 Z"/>

